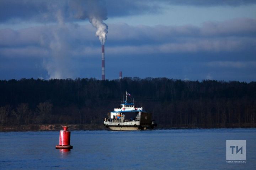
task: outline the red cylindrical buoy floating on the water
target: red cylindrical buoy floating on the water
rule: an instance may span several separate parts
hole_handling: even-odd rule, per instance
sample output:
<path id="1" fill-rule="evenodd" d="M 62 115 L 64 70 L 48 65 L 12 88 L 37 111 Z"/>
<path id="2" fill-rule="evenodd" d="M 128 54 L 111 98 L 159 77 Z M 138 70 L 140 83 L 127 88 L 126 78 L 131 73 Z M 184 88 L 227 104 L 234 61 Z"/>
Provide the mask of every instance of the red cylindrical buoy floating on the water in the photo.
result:
<path id="1" fill-rule="evenodd" d="M 60 130 L 59 145 L 56 145 L 56 149 L 72 149 L 70 145 L 70 131 L 68 131 L 68 125 L 62 126 L 63 130 Z"/>

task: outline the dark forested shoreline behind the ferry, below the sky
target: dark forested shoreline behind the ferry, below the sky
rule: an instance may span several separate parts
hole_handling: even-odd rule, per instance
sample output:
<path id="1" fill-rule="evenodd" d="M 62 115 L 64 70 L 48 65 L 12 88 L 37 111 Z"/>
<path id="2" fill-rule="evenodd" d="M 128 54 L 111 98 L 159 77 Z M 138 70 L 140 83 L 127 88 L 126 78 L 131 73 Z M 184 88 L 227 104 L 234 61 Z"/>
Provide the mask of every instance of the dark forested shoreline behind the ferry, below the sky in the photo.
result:
<path id="1" fill-rule="evenodd" d="M 102 124 L 125 91 L 160 127 L 256 126 L 256 82 L 137 77 L 0 80 L 0 126 Z"/>

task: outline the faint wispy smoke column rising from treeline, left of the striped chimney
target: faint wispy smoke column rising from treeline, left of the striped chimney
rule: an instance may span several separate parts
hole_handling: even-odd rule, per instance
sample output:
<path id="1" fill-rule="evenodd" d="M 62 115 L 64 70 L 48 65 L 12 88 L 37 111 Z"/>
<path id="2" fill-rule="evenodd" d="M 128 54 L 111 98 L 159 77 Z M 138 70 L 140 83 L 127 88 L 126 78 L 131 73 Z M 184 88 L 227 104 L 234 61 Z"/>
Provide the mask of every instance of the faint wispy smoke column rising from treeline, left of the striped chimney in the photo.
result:
<path id="1" fill-rule="evenodd" d="M 47 70 L 49 79 L 75 78 L 71 63 L 71 49 L 69 44 L 70 28 L 65 24 L 64 7 L 62 3 L 50 3 L 49 13 L 52 13 L 57 25 L 48 26 L 48 31 L 41 35 L 40 45 L 49 51 L 44 59 L 43 67 Z"/>

